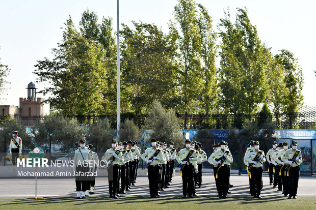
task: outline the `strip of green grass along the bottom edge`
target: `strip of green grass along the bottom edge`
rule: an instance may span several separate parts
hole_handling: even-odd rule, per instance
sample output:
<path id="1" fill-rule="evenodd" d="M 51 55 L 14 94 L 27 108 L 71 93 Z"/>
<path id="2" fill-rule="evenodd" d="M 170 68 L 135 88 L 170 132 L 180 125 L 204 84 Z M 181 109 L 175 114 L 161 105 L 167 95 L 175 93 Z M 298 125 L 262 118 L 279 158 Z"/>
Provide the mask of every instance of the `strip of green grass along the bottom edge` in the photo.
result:
<path id="1" fill-rule="evenodd" d="M 120 197 L 117 200 L 93 196 L 86 199 L 74 197 L 46 197 L 32 200 L 28 198 L 2 197 L 1 209 L 316 209 L 316 197 L 286 199 L 280 196 L 251 199 L 250 197 L 199 196 L 193 199 L 175 196 L 150 199 L 143 196 Z M 300 207 L 300 208 L 299 208 Z M 303 208 L 302 208 L 303 207 Z"/>

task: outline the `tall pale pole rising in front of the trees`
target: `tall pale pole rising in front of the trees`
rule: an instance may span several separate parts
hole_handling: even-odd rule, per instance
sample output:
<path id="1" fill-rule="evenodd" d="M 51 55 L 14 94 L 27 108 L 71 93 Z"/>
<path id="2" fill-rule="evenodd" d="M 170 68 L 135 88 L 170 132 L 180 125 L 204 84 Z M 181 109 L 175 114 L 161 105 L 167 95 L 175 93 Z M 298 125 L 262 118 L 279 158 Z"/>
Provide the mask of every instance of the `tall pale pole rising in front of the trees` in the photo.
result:
<path id="1" fill-rule="evenodd" d="M 119 24 L 119 0 L 117 0 L 117 139 L 121 126 L 121 83 L 120 83 L 120 24 Z"/>

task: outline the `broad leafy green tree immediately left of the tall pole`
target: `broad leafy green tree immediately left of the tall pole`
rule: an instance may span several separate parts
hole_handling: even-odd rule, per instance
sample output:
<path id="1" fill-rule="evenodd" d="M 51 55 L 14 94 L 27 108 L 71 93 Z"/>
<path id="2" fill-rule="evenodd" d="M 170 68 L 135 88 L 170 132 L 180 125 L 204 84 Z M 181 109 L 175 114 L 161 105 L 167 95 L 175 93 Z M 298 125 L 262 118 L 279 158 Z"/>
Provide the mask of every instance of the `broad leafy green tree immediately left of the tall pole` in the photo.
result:
<path id="1" fill-rule="evenodd" d="M 37 80 L 50 84 L 40 93 L 51 94 L 45 102 L 64 114 L 103 114 L 114 104 L 112 20 L 103 18 L 98 24 L 96 14 L 88 10 L 82 15 L 80 32 L 71 17 L 65 26 L 62 42 L 52 49 L 53 58 L 35 65 Z"/>

